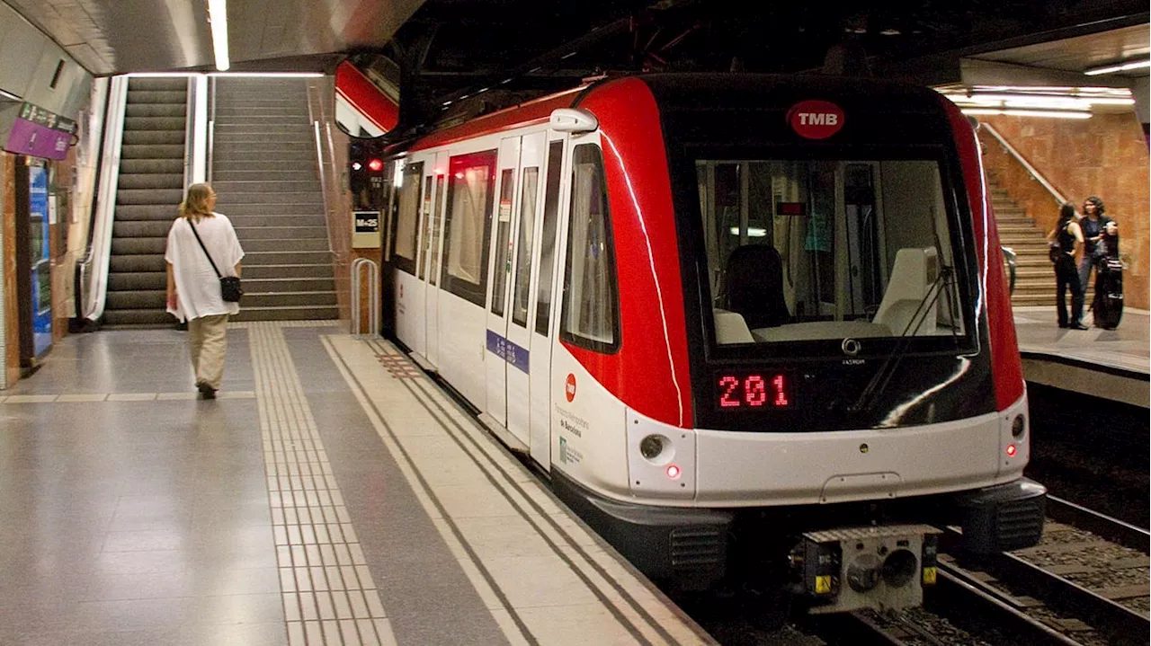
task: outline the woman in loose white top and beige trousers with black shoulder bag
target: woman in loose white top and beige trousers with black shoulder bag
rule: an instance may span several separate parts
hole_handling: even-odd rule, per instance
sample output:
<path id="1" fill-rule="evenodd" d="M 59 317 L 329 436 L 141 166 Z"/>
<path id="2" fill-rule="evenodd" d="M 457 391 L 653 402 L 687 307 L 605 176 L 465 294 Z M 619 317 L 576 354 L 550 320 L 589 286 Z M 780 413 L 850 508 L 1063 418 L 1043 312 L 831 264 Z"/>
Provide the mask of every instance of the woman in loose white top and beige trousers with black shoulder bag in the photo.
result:
<path id="1" fill-rule="evenodd" d="M 220 279 L 207 254 L 222 276 L 238 277 L 239 261 L 244 257 L 231 221 L 212 210 L 215 200 L 215 191 L 207 184 L 188 187 L 180 217 L 168 230 L 163 255 L 168 261 L 168 312 L 181 322 L 188 320 L 196 389 L 204 399 L 215 399 L 220 390 L 228 317 L 239 314 L 238 303 L 223 300 Z"/>

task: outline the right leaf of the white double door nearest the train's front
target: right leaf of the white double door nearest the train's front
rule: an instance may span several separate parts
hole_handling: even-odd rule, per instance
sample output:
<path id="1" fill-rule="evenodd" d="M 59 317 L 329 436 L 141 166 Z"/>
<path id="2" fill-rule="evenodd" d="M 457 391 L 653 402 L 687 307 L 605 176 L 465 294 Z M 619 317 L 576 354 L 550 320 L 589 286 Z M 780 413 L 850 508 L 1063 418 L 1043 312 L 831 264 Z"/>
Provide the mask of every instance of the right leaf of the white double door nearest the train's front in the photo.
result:
<path id="1" fill-rule="evenodd" d="M 511 267 L 506 322 L 508 432 L 531 446 L 538 433 L 531 424 L 531 375 L 539 369 L 531 354 L 532 332 L 527 313 L 532 301 L 532 259 L 535 248 L 535 222 L 540 213 L 541 171 L 546 134 L 539 132 L 520 139 L 519 189 L 513 214 L 512 243 L 509 245 Z M 544 366 L 547 367 L 547 366 Z M 547 433 L 547 426 L 543 426 Z"/>

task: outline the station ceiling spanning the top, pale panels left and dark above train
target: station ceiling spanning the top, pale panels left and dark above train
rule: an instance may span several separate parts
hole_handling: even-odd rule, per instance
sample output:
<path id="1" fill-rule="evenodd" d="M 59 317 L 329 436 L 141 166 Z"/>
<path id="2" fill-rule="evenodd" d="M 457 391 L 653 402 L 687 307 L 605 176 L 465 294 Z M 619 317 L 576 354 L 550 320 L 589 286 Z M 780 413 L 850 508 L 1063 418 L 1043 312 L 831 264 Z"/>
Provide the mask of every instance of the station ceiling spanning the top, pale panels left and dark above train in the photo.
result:
<path id="1" fill-rule="evenodd" d="M 213 69 L 206 0 L 0 1 L 97 76 Z M 228 0 L 228 23 L 233 70 L 331 71 L 346 52 L 386 48 L 436 97 L 509 78 L 567 86 L 611 70 L 837 60 L 956 83 L 960 60 L 1082 74 L 1151 55 L 1146 0 Z"/>

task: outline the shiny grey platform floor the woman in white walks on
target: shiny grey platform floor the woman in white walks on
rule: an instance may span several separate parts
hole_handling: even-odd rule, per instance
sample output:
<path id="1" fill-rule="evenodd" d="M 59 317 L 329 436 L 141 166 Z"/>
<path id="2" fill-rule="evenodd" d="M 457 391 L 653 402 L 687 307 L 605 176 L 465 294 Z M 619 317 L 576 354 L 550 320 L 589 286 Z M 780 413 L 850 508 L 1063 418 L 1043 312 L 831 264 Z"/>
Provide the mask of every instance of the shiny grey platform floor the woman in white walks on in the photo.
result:
<path id="1" fill-rule="evenodd" d="M 0 391 L 0 644 L 715 644 L 379 338 L 66 337 Z"/>

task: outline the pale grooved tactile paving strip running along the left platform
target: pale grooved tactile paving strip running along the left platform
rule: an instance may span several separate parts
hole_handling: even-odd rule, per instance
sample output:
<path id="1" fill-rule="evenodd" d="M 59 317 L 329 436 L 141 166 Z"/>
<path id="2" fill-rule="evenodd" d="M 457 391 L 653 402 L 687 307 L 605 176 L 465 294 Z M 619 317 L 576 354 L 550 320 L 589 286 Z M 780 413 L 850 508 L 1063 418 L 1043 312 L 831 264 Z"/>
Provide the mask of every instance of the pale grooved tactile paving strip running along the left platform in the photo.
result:
<path id="1" fill-rule="evenodd" d="M 249 329 L 289 644 L 395 644 L 281 328 Z"/>

